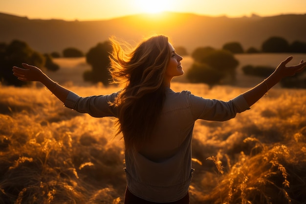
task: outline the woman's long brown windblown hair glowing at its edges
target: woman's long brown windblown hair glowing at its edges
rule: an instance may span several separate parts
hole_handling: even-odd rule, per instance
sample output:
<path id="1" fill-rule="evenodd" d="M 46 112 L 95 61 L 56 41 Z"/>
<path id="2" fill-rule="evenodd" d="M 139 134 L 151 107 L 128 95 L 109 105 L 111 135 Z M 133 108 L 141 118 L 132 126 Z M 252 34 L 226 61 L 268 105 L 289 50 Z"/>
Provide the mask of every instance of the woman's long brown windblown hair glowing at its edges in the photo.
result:
<path id="1" fill-rule="evenodd" d="M 118 110 L 118 134 L 125 148 L 140 147 L 148 141 L 161 113 L 165 98 L 164 74 L 170 51 L 168 37 L 151 37 L 130 52 L 110 39 L 110 73 L 114 83 L 124 84 L 113 105 Z"/>

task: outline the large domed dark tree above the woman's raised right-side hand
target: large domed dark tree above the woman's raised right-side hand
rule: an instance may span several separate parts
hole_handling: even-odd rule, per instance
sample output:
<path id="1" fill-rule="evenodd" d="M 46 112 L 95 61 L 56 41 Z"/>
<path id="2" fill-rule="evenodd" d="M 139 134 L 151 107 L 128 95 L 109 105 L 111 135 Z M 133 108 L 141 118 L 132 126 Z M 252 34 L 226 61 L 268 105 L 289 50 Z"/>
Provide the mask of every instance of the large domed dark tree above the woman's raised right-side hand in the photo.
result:
<path id="1" fill-rule="evenodd" d="M 281 37 L 271 37 L 262 43 L 262 52 L 289 52 L 289 43 Z"/>

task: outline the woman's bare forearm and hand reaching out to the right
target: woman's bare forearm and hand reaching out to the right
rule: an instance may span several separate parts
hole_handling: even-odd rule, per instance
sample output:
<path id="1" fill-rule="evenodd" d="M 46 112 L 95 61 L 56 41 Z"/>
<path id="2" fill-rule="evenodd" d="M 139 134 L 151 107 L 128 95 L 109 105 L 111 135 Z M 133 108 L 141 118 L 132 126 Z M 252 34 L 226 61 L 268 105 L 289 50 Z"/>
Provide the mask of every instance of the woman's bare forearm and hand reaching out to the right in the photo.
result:
<path id="1" fill-rule="evenodd" d="M 295 73 L 303 71 L 303 69 L 306 67 L 306 62 L 303 60 L 298 65 L 286 67 L 287 63 L 290 62 L 292 58 L 293 57 L 290 56 L 284 60 L 262 83 L 251 90 L 242 93 L 249 106 L 256 103 L 265 93 L 267 93 L 267 91 L 269 91 L 269 89 L 280 82 L 282 78 L 292 76 Z"/>

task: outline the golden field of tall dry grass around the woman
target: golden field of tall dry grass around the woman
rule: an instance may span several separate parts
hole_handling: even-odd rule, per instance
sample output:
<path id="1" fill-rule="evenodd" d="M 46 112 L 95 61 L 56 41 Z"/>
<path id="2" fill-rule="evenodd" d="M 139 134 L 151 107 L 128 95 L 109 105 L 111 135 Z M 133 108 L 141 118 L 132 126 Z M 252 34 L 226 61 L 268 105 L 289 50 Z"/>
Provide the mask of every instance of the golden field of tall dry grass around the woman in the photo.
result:
<path id="1" fill-rule="evenodd" d="M 263 64 L 253 58 L 240 64 Z M 268 58 L 272 66 L 285 59 Z M 117 91 L 82 82 L 84 59 L 57 62 L 60 74 L 48 74 L 81 96 Z M 180 80 L 174 91 L 229 100 L 262 79 L 240 73 L 237 86 L 212 89 Z M 124 149 L 113 118 L 71 111 L 39 84 L 0 86 L 0 95 L 0 204 L 123 204 Z M 191 204 L 305 203 L 305 113 L 306 90 L 276 87 L 234 119 L 197 121 Z"/>

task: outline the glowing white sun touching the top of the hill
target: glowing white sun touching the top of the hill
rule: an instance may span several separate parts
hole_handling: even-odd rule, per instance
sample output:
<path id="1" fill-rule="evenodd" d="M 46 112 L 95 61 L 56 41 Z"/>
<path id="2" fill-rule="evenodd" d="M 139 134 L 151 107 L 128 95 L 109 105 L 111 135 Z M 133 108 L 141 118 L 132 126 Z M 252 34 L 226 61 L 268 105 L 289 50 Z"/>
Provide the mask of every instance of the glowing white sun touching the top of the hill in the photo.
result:
<path id="1" fill-rule="evenodd" d="M 159 13 L 171 7 L 172 0 L 134 0 L 141 13 Z"/>

